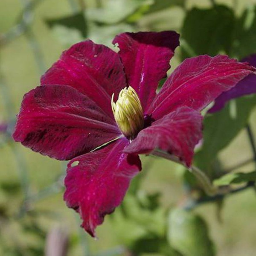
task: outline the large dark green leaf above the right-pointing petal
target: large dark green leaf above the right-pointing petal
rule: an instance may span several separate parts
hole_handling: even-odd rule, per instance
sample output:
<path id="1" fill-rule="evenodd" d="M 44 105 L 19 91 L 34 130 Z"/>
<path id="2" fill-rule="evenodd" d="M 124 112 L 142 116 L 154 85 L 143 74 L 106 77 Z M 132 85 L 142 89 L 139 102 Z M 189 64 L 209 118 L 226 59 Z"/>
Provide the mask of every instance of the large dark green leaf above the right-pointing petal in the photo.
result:
<path id="1" fill-rule="evenodd" d="M 193 8 L 187 13 L 181 31 L 182 57 L 216 55 L 220 51 L 228 53 L 232 44 L 234 21 L 233 10 L 227 6 Z"/>

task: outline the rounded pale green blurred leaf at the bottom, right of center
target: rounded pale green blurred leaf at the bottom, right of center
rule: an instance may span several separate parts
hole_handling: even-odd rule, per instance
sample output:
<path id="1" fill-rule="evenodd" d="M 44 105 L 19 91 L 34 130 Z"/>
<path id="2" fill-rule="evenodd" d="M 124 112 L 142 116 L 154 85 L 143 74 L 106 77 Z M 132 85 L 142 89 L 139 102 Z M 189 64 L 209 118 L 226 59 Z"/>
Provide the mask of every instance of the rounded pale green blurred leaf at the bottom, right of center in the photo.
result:
<path id="1" fill-rule="evenodd" d="M 174 209 L 169 215 L 168 240 L 184 256 L 214 256 L 205 221 L 192 212 Z"/>

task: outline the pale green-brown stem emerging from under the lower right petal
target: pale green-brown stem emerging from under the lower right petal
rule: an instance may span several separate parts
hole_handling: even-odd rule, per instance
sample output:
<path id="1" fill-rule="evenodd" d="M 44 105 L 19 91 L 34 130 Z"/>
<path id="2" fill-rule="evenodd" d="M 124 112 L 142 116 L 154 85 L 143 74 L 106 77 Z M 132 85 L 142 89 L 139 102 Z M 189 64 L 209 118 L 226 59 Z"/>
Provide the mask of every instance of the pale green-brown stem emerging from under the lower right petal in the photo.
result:
<path id="1" fill-rule="evenodd" d="M 151 154 L 154 155 L 154 156 L 157 156 L 157 157 L 163 157 L 163 158 L 165 158 L 167 160 L 171 160 L 175 163 L 182 164 L 184 167 L 186 167 L 189 170 L 189 172 L 191 172 L 193 175 L 195 175 L 195 177 L 201 183 L 201 186 L 204 188 L 204 191 L 206 192 L 207 195 L 209 195 L 209 196 L 217 195 L 218 188 L 216 188 L 215 186 L 212 185 L 212 182 L 209 179 L 209 177 L 207 177 L 207 175 L 205 175 L 205 173 L 202 172 L 199 168 L 197 168 L 195 166 L 191 166 L 190 168 L 188 168 L 177 157 L 175 157 L 171 154 L 168 154 L 164 151 L 155 150 Z"/>

